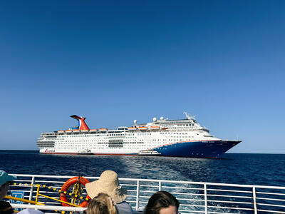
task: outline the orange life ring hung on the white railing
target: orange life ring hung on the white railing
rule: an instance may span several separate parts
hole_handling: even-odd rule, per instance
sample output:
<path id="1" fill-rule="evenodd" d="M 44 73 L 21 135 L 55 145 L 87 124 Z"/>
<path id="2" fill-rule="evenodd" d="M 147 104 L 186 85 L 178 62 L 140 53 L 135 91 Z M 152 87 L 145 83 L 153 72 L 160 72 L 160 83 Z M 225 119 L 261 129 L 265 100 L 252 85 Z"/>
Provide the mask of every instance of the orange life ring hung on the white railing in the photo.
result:
<path id="1" fill-rule="evenodd" d="M 65 201 L 65 202 L 69 203 L 69 201 L 66 198 L 66 193 L 64 193 L 64 192 L 66 192 L 71 185 L 73 185 L 77 182 L 79 182 L 85 186 L 86 183 L 89 183 L 90 181 L 87 180 L 86 178 L 78 177 L 78 176 L 66 180 L 66 183 L 63 183 L 63 186 L 61 187 L 61 194 L 59 195 L 59 198 L 61 198 L 61 200 Z M 91 199 L 91 198 L 89 197 L 89 195 L 87 195 L 86 199 Z M 63 202 L 61 204 L 65 207 L 71 206 L 71 205 L 68 205 L 68 204 L 63 203 Z M 88 205 L 88 200 L 84 200 L 83 203 L 80 204 L 80 206 L 83 208 L 85 208 L 87 205 Z"/>

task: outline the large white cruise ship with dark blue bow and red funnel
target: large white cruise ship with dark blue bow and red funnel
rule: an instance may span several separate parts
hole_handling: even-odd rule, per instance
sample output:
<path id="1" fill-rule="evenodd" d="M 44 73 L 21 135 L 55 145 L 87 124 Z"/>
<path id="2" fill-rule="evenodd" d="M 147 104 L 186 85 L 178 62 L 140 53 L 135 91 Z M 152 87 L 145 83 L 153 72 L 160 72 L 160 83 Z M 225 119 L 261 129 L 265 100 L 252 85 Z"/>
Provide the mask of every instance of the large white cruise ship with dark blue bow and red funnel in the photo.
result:
<path id="1" fill-rule="evenodd" d="M 242 141 L 216 138 L 209 129 L 197 123 L 195 116 L 184 113 L 185 119 L 153 118 L 150 123 L 90 129 L 84 117 L 73 115 L 78 126 L 68 130 L 44 132 L 38 138 L 40 153 L 140 155 L 220 158 Z"/>

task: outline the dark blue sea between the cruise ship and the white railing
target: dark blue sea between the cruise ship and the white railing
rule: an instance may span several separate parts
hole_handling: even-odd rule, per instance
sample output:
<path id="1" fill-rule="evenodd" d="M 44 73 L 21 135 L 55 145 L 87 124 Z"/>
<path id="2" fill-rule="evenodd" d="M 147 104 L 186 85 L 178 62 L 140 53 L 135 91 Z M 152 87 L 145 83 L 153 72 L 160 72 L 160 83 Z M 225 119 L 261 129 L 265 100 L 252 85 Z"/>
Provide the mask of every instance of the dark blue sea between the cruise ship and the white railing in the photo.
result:
<path id="1" fill-rule="evenodd" d="M 285 155 L 225 153 L 221 159 L 159 156 L 62 156 L 0 151 L 0 169 L 36 175 L 100 176 L 285 186 Z"/>

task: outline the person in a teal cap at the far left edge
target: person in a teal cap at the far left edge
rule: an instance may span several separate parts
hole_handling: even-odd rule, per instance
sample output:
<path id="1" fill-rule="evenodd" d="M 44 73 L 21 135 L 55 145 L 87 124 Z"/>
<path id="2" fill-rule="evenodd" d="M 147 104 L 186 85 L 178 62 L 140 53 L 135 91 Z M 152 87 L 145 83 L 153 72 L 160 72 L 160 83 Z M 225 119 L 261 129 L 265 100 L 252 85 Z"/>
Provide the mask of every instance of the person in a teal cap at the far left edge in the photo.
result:
<path id="1" fill-rule="evenodd" d="M 17 177 L 14 175 L 8 175 L 4 170 L 0 170 L 0 213 L 11 214 L 14 213 L 13 208 L 7 201 L 2 201 L 6 196 L 10 183 Z"/>

